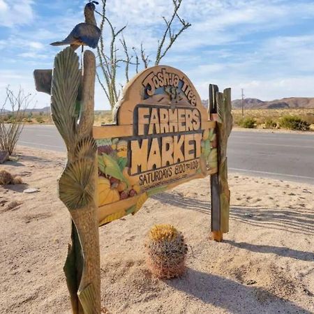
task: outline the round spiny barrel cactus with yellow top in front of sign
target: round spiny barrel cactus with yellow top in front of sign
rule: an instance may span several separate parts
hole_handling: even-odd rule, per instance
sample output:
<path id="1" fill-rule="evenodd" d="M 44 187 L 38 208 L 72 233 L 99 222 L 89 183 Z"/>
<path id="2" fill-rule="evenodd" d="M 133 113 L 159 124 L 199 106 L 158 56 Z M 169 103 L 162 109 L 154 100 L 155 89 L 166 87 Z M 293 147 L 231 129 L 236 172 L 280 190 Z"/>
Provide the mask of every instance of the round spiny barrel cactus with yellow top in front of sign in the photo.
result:
<path id="1" fill-rule="evenodd" d="M 188 247 L 184 236 L 172 225 L 155 225 L 146 241 L 147 265 L 157 278 L 174 278 L 185 271 Z"/>

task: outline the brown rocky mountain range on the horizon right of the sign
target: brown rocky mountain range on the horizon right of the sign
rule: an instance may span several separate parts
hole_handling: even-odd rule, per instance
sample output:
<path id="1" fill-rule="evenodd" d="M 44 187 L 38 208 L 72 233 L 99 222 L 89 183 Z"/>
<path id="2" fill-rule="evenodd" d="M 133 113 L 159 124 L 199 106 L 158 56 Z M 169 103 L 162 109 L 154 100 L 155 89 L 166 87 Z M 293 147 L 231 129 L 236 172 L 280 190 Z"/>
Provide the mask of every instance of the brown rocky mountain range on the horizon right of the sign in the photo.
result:
<path id="1" fill-rule="evenodd" d="M 232 100 L 232 107 L 242 107 L 241 99 Z M 290 97 L 278 100 L 262 101 L 257 98 L 245 98 L 244 108 L 246 109 L 280 109 L 280 108 L 314 108 L 314 98 Z"/>

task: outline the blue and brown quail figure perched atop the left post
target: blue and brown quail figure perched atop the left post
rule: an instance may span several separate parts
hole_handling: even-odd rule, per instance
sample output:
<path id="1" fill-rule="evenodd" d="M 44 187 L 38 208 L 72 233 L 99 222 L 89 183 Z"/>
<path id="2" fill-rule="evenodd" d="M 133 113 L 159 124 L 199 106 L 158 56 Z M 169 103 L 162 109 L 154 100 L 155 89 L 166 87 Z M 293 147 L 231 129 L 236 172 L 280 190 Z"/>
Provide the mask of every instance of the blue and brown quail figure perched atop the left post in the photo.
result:
<path id="1" fill-rule="evenodd" d="M 78 47 L 87 45 L 91 48 L 96 48 L 100 38 L 100 29 L 97 27 L 94 11 L 96 10 L 96 1 L 90 1 L 84 8 L 85 22 L 77 24 L 70 32 L 68 37 L 62 41 L 51 43 L 53 46 L 70 45 L 73 50 Z M 83 47 L 82 47 L 83 49 Z"/>

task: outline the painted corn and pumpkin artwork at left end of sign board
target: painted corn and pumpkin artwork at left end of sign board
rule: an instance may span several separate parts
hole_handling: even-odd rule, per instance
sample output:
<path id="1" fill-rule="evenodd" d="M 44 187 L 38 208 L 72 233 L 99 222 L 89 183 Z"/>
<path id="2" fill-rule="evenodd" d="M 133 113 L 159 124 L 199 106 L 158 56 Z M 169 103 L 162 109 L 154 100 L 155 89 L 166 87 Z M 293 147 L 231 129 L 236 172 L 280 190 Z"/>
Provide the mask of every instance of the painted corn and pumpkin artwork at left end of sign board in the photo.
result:
<path id="1" fill-rule="evenodd" d="M 136 177 L 128 174 L 128 142 L 97 140 L 98 145 L 98 206 L 125 200 L 140 193 Z"/>

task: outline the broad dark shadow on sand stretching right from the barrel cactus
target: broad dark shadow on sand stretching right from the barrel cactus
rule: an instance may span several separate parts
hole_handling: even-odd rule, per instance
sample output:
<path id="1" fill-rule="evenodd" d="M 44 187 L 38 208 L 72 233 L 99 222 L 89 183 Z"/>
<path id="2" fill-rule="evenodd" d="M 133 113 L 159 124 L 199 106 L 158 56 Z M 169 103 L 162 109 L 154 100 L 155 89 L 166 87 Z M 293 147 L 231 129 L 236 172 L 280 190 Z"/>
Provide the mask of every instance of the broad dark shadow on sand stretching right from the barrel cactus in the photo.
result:
<path id="1" fill-rule="evenodd" d="M 260 287 L 241 285 L 194 269 L 188 269 L 181 278 L 165 282 L 170 287 L 230 313 L 311 313 Z M 256 302 L 250 301 L 252 297 Z"/>

